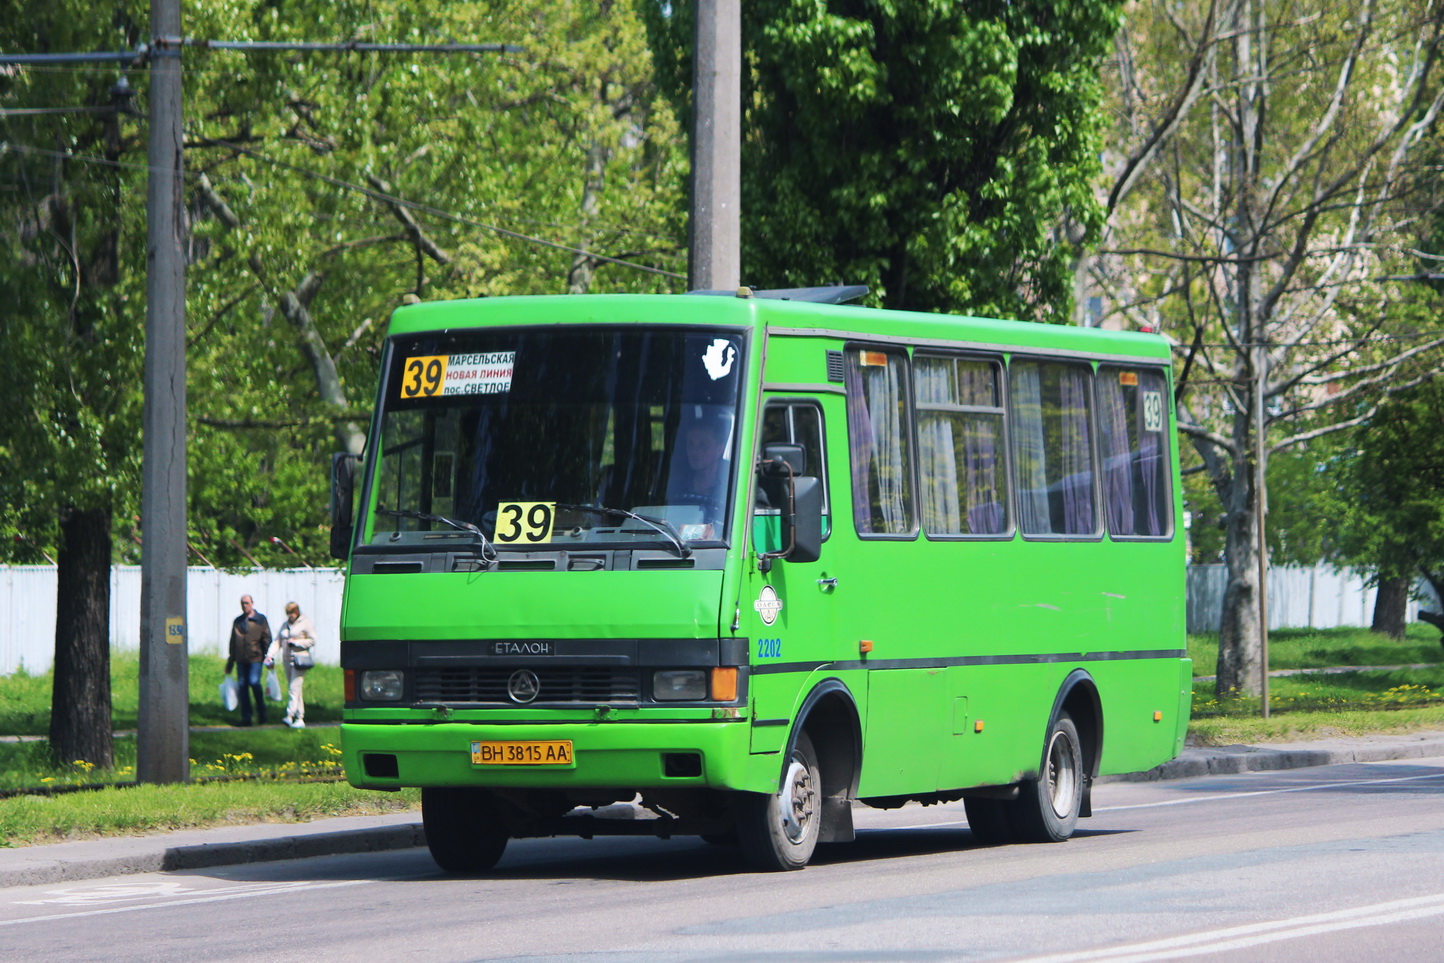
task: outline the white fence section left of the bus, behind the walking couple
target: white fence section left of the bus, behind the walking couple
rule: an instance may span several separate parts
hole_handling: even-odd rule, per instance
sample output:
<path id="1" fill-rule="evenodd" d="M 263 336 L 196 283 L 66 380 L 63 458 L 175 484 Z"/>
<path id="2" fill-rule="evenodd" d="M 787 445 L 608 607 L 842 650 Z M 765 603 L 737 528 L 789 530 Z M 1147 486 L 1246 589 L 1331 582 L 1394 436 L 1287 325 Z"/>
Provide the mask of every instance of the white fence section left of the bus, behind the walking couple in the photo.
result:
<path id="1" fill-rule="evenodd" d="M 257 569 L 228 573 L 186 570 L 186 629 L 192 653 L 225 655 L 231 621 L 241 614 L 241 596 L 256 599 L 274 632 L 295 602 L 316 624 L 316 661 L 341 661 L 341 585 L 334 569 Z M 55 655 L 55 566 L 0 566 L 0 676 L 22 666 L 29 673 L 49 670 Z M 120 565 L 110 573 L 110 644 L 116 651 L 140 648 L 140 566 Z"/>

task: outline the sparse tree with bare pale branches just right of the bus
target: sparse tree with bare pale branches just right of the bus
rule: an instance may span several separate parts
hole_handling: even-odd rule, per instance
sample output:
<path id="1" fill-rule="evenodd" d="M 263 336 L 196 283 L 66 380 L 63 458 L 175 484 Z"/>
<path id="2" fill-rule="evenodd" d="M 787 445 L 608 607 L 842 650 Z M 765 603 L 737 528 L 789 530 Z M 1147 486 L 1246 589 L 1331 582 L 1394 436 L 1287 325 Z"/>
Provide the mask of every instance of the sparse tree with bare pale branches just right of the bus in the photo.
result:
<path id="1" fill-rule="evenodd" d="M 1432 204 L 1441 20 L 1399 1 L 1129 7 L 1108 234 L 1090 283 L 1180 344 L 1180 430 L 1222 502 L 1220 696 L 1261 690 L 1255 450 L 1365 423 L 1438 364 L 1391 310 Z"/>

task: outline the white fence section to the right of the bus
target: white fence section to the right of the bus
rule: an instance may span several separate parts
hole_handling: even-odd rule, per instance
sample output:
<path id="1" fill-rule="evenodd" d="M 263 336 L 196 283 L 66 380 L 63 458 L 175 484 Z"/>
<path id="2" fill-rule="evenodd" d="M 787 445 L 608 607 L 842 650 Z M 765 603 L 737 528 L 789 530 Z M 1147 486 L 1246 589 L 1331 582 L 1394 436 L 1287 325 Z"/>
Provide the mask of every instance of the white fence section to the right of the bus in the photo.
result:
<path id="1" fill-rule="evenodd" d="M 1222 565 L 1188 566 L 1188 631 L 1217 632 L 1229 573 Z M 1275 566 L 1268 570 L 1268 627 L 1334 628 L 1373 622 L 1376 591 L 1354 572 L 1314 566 Z M 1409 601 L 1408 621 L 1419 605 Z"/>

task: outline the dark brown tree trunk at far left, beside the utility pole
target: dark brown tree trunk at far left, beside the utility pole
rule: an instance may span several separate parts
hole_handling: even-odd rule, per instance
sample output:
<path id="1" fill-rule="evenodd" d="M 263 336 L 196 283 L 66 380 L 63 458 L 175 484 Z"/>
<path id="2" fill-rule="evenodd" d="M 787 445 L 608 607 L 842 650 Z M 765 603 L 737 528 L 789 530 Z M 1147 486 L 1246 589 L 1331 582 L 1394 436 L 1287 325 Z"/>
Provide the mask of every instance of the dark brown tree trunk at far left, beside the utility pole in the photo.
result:
<path id="1" fill-rule="evenodd" d="M 61 517 L 51 755 L 58 765 L 116 761 L 110 719 L 110 508 Z"/>

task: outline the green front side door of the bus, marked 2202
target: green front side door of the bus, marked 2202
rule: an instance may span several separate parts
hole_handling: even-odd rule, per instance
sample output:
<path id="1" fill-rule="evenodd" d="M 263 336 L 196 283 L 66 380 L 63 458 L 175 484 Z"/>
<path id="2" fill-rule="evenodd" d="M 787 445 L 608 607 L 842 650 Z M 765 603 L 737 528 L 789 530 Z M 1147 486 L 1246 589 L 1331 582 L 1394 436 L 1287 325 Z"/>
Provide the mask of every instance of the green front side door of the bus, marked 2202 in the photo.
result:
<path id="1" fill-rule="evenodd" d="M 840 407 L 839 414 L 840 417 Z M 762 410 L 761 448 L 770 443 L 801 446 L 804 474 L 822 481 L 823 546 L 816 562 L 773 559 L 754 565 L 745 582 L 742 624 L 751 637 L 752 752 L 781 752 L 791 732 L 793 712 L 812 670 L 839 658 L 833 588 L 838 578 L 829 565 L 826 537 L 832 517 L 827 484 L 827 450 L 823 406 L 814 398 L 770 400 Z M 781 485 L 770 495 L 761 484 L 752 510 L 752 550 L 781 552 Z M 748 611 L 751 609 L 751 611 Z"/>

